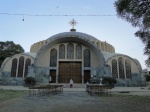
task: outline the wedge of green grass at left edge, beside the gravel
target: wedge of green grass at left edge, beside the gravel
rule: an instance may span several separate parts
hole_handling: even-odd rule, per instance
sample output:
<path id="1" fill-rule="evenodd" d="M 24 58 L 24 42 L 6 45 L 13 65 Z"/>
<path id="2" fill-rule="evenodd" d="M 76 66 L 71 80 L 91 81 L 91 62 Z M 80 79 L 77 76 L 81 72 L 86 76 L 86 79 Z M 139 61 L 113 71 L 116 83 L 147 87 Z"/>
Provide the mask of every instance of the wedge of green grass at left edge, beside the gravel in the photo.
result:
<path id="1" fill-rule="evenodd" d="M 0 89 L 0 102 L 26 95 L 27 91 Z"/>

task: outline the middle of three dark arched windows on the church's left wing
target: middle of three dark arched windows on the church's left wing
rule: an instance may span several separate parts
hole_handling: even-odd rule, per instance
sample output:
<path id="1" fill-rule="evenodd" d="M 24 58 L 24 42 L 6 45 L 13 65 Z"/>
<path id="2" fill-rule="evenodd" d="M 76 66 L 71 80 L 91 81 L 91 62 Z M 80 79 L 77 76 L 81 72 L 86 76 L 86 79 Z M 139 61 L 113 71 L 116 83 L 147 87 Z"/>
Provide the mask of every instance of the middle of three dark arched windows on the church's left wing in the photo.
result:
<path id="1" fill-rule="evenodd" d="M 21 56 L 19 58 L 19 67 L 18 67 L 18 76 L 17 77 L 23 76 L 23 69 L 24 69 L 24 57 Z"/>

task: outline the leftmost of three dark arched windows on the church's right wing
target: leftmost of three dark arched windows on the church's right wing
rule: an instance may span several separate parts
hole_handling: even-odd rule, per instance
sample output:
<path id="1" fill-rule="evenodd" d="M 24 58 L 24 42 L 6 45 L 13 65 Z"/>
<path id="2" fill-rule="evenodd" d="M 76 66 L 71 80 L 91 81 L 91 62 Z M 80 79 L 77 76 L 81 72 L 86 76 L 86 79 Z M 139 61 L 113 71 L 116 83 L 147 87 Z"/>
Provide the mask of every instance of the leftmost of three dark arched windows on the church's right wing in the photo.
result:
<path id="1" fill-rule="evenodd" d="M 112 64 L 112 77 L 118 78 L 117 60 L 113 59 L 111 64 Z"/>

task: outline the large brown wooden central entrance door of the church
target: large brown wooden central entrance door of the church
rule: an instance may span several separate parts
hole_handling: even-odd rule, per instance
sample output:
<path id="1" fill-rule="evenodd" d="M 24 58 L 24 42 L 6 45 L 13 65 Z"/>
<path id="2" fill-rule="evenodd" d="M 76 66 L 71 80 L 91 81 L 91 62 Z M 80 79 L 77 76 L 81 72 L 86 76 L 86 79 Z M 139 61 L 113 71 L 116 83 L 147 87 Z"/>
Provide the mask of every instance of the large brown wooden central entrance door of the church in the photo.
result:
<path id="1" fill-rule="evenodd" d="M 81 62 L 59 62 L 59 83 L 69 83 L 70 79 L 74 83 L 82 82 Z"/>

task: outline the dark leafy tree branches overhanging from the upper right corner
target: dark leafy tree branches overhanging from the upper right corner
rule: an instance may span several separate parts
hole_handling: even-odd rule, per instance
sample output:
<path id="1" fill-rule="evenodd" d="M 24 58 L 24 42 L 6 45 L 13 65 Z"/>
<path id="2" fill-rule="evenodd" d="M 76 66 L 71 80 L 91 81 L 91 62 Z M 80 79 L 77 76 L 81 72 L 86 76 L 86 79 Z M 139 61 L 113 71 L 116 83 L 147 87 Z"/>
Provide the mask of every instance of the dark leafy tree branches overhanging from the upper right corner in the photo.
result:
<path id="1" fill-rule="evenodd" d="M 150 65 L 150 0 L 117 0 L 114 5 L 119 17 L 139 28 L 135 36 L 144 43 L 145 62 Z"/>

